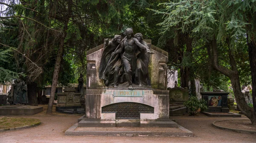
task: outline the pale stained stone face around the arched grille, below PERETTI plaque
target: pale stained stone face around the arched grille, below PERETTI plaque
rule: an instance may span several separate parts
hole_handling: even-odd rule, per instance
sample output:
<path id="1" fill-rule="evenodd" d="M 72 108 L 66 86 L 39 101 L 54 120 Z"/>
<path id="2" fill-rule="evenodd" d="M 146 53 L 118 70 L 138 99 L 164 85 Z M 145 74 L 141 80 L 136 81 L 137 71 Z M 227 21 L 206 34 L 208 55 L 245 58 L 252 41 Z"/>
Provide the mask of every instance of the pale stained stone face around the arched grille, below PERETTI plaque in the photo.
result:
<path id="1" fill-rule="evenodd" d="M 133 102 L 139 104 L 145 104 L 154 107 L 154 113 L 144 114 L 140 113 L 141 119 L 166 119 L 169 118 L 169 95 L 154 94 L 154 90 L 143 90 L 142 97 L 134 96 L 114 96 L 114 90 L 101 90 L 101 94 L 97 90 L 87 90 L 87 104 L 86 112 L 87 118 L 110 118 L 107 113 L 102 113 L 102 107 L 122 102 Z M 125 90 L 124 90 L 125 91 Z M 133 90 L 131 90 L 133 91 Z M 160 93 L 168 93 L 164 91 L 158 91 Z M 90 94 L 89 94 L 90 93 Z M 115 119 L 115 117 L 113 117 Z"/>

